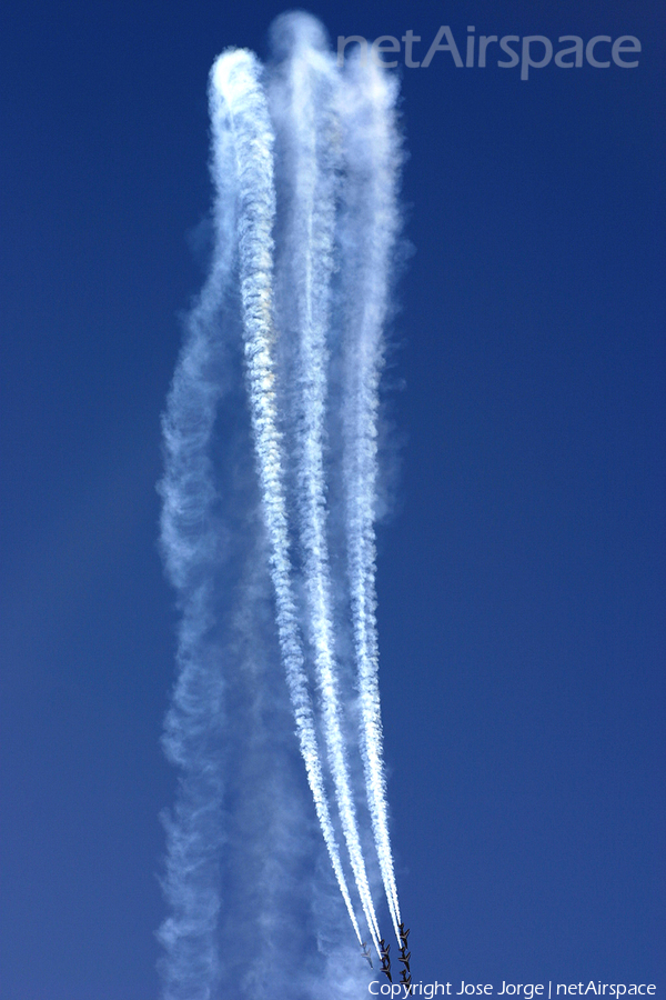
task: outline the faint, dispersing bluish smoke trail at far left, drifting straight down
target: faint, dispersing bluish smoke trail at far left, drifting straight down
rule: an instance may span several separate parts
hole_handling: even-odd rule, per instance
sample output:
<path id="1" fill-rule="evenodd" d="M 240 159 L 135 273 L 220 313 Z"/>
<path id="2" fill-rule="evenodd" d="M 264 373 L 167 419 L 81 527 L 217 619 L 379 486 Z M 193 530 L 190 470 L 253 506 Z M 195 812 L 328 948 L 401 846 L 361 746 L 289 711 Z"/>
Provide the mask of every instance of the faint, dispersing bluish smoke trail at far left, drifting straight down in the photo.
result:
<path id="1" fill-rule="evenodd" d="M 167 756 L 180 769 L 175 809 L 164 818 L 163 888 L 172 909 L 159 931 L 165 949 L 160 963 L 165 1000 L 209 1000 L 220 973 L 223 681 L 211 626 L 215 619 L 212 580 L 222 539 L 213 516 L 209 446 L 223 394 L 220 370 L 225 346 L 220 319 L 233 267 L 236 198 L 229 130 L 214 113 L 212 126 L 220 166 L 226 164 L 215 206 L 214 263 L 188 320 L 163 418 L 161 546 L 183 614 L 179 679 L 163 738 Z"/>

